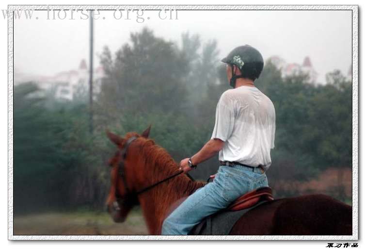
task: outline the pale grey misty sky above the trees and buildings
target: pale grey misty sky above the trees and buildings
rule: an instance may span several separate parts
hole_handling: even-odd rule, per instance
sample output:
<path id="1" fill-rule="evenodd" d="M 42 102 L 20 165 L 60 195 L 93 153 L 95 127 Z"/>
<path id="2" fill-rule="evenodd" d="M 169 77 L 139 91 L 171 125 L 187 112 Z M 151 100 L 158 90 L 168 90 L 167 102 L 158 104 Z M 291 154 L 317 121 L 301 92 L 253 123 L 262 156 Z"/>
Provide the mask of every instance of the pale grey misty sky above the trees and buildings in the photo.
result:
<path id="1" fill-rule="evenodd" d="M 138 23 L 136 13 L 130 13 L 131 19 L 126 20 L 126 12 L 123 12 L 122 18 L 117 20 L 113 18 L 113 11 L 100 11 L 99 19 L 94 22 L 95 66 L 103 46 L 115 52 L 129 41 L 130 32 L 147 26 L 157 36 L 178 44 L 181 33 L 186 31 L 200 34 L 203 42 L 216 39 L 220 58 L 244 44 L 258 49 L 264 59 L 279 55 L 286 62 L 302 64 L 304 57 L 309 56 L 319 73 L 318 82 L 325 82 L 325 73 L 340 69 L 347 74 L 351 65 L 351 13 L 340 10 L 181 10 L 178 20 L 161 20 L 158 11 L 145 11 L 144 22 Z M 70 12 L 64 20 L 47 20 L 47 14 L 47 11 L 35 11 L 32 20 L 15 20 L 16 73 L 51 76 L 77 69 L 82 58 L 88 61 L 89 20 L 80 20 L 85 17 L 80 13 L 74 14 L 75 20 L 69 20 Z M 52 18 L 52 12 L 49 15 Z"/>

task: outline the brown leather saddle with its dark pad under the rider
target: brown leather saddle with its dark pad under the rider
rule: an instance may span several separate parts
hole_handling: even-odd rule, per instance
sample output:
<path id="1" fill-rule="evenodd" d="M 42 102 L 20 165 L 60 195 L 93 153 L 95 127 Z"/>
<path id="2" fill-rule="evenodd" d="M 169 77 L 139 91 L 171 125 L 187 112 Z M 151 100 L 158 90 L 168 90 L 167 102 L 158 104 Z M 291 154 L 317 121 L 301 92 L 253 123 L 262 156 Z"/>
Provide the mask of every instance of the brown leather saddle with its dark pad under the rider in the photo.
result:
<path id="1" fill-rule="evenodd" d="M 203 219 L 196 225 L 190 235 L 228 235 L 235 223 L 253 208 L 273 200 L 272 189 L 261 187 L 250 191 L 213 215 Z"/>

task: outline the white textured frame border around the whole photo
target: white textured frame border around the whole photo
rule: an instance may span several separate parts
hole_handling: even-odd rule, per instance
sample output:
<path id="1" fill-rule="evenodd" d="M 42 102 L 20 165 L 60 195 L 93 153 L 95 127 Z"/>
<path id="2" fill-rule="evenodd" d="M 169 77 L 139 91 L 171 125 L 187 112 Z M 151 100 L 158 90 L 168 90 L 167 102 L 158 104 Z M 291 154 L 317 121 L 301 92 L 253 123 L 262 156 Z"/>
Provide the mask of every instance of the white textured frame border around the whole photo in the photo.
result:
<path id="1" fill-rule="evenodd" d="M 14 235 L 14 19 L 8 19 L 8 239 L 9 240 L 358 240 L 358 5 L 8 5 L 8 10 L 350 10 L 352 11 L 352 235 Z"/>

